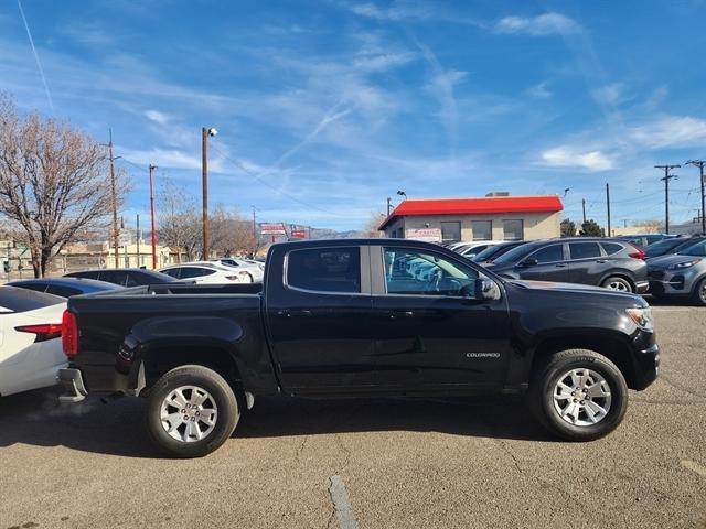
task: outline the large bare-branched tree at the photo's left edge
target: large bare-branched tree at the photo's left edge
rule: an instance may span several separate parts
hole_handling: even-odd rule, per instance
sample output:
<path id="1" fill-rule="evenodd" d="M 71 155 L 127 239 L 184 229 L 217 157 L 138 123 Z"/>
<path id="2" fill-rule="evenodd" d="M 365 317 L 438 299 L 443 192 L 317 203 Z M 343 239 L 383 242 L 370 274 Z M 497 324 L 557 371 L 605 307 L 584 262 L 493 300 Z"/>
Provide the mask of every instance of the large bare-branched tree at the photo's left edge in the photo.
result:
<path id="1" fill-rule="evenodd" d="M 79 231 L 107 226 L 107 163 L 85 133 L 38 112 L 20 116 L 0 94 L 0 216 L 30 249 L 35 277 Z M 127 187 L 119 179 L 118 201 Z"/>

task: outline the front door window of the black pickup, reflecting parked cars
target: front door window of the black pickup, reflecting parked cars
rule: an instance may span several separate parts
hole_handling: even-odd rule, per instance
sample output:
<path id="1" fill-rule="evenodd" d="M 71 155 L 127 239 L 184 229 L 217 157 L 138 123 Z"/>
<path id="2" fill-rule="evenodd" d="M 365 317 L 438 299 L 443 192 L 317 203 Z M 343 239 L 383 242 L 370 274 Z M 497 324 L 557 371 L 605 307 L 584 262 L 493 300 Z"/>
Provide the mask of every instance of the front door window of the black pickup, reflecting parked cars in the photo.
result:
<path id="1" fill-rule="evenodd" d="M 478 272 L 425 250 L 385 248 L 388 294 L 463 295 L 473 292 Z"/>

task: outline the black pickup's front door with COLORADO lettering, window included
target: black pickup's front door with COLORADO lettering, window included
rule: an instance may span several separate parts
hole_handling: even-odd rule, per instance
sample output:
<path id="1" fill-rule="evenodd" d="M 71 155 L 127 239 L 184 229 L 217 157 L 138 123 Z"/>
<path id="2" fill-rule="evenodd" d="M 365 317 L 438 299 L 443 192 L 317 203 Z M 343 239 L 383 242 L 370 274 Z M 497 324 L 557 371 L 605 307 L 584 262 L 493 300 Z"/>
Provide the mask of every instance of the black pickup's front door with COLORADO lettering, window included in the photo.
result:
<path id="1" fill-rule="evenodd" d="M 481 272 L 461 258 L 396 245 L 372 247 L 371 270 L 382 387 L 503 382 L 511 350 L 506 301 L 474 298 Z"/>

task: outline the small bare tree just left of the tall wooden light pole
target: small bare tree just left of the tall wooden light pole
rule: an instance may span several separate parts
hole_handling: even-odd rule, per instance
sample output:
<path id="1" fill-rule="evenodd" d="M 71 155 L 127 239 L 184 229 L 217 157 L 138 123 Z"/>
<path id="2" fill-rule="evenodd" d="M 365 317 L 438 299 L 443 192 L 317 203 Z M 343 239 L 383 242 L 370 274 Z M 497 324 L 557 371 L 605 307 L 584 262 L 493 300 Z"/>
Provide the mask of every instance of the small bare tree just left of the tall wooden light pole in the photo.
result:
<path id="1" fill-rule="evenodd" d="M 194 199 L 170 179 L 161 179 L 157 195 L 157 237 L 160 244 L 193 261 L 203 247 L 201 213 Z"/>

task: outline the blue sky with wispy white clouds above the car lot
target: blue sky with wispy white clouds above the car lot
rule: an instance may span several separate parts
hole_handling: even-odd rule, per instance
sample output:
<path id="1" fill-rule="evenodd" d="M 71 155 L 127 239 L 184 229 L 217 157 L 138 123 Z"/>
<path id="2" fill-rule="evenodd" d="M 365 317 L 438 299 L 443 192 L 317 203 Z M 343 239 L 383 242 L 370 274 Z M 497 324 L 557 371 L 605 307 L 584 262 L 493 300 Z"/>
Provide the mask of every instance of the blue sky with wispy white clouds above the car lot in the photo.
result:
<path id="1" fill-rule="evenodd" d="M 410 198 L 557 193 L 566 216 L 663 218 L 653 165 L 706 156 L 702 1 L 17 0 L 0 89 L 98 140 L 147 213 L 147 165 L 261 220 L 361 228 Z M 51 102 L 50 102 L 51 98 Z M 677 170 L 671 222 L 697 214 Z M 395 201 L 397 202 L 397 201 Z"/>

